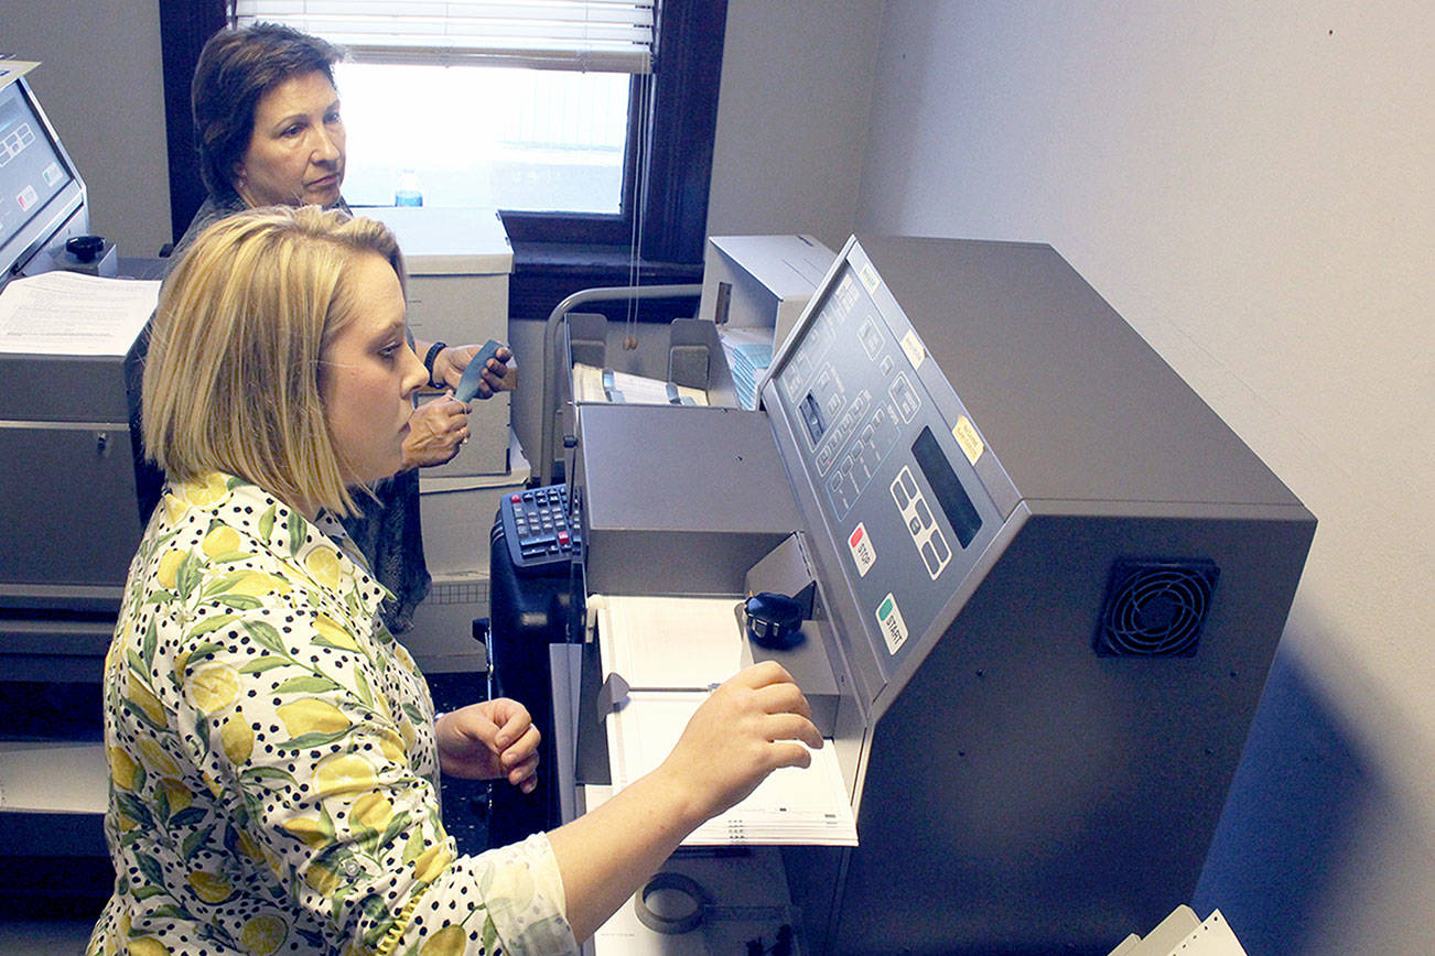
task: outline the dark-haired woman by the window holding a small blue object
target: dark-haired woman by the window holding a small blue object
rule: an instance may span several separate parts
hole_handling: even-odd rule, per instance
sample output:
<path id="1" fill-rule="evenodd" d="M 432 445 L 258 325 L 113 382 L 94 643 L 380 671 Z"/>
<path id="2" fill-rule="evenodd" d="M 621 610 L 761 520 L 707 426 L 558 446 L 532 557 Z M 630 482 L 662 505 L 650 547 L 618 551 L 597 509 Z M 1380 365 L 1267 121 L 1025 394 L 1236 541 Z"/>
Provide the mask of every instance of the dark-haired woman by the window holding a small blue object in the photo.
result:
<path id="1" fill-rule="evenodd" d="M 343 201 L 344 125 L 333 64 L 343 52 L 331 43 L 276 23 L 221 30 L 210 37 L 195 66 L 194 107 L 199 172 L 208 196 L 175 244 L 171 264 L 207 226 L 244 209 L 317 205 L 349 211 Z M 149 330 L 126 357 L 131 437 L 141 522 L 159 500 L 164 476 L 139 441 L 141 376 Z M 433 388 L 455 388 L 478 345 L 451 347 L 415 341 Z M 517 386 L 508 367 L 512 353 L 488 363 L 479 397 Z M 405 443 L 405 467 L 373 489 L 376 502 L 346 519 L 349 533 L 392 598 L 385 619 L 406 631 L 429 589 L 419 526 L 419 479 L 415 469 L 451 460 L 468 440 L 469 407 L 448 394 L 423 406 Z"/>

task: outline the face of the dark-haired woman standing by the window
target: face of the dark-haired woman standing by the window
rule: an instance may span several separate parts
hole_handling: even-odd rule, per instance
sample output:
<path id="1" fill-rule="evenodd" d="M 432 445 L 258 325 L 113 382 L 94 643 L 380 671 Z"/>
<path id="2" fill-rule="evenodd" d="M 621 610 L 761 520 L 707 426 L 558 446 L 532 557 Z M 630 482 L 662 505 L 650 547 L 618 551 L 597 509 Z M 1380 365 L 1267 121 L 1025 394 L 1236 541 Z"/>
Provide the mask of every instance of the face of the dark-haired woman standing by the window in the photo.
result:
<path id="1" fill-rule="evenodd" d="M 254 106 L 254 132 L 234 189 L 254 206 L 331 206 L 344 182 L 339 92 L 321 72 L 291 76 Z"/>

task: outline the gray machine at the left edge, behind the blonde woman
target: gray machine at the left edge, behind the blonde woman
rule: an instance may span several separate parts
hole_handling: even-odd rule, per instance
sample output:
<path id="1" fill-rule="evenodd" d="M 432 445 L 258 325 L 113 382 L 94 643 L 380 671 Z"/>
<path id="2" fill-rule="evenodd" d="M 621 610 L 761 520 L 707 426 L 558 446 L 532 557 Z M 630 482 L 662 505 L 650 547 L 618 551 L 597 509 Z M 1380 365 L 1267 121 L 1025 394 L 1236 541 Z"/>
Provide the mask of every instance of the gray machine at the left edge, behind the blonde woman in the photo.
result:
<path id="1" fill-rule="evenodd" d="M 0 87 L 0 138 L 16 148 L 0 166 L 3 288 L 65 265 L 89 208 L 23 79 Z M 22 209 L 22 193 L 40 199 Z M 0 353 L 0 679 L 98 682 L 141 532 L 123 357 Z"/>

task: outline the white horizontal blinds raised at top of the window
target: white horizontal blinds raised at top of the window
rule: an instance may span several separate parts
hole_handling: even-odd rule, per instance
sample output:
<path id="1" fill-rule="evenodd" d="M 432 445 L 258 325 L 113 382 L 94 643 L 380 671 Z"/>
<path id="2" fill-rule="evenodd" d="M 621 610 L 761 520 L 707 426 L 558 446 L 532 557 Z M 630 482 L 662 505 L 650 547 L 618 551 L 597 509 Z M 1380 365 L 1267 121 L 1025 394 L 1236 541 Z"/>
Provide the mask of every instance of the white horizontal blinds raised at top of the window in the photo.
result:
<path id="1" fill-rule="evenodd" d="M 647 73 L 657 0 L 234 0 L 234 21 L 287 23 L 356 63 Z"/>

